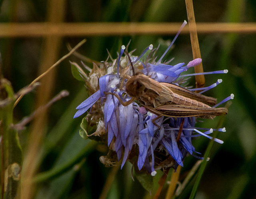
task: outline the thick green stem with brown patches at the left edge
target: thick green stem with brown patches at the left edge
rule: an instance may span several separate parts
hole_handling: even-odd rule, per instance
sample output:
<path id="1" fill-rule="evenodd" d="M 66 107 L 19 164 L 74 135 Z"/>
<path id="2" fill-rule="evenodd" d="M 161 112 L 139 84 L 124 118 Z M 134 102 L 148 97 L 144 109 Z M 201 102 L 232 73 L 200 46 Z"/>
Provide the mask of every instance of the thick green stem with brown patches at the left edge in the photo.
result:
<path id="1" fill-rule="evenodd" d="M 22 167 L 22 149 L 18 131 L 12 128 L 13 105 L 16 98 L 8 80 L 2 79 L 0 88 L 2 88 L 0 89 L 0 135 L 1 145 L 3 145 L 2 160 L 4 160 L 1 164 L 5 169 L 4 183 L 6 186 L 4 195 L 6 198 L 14 198 L 18 195 Z"/>

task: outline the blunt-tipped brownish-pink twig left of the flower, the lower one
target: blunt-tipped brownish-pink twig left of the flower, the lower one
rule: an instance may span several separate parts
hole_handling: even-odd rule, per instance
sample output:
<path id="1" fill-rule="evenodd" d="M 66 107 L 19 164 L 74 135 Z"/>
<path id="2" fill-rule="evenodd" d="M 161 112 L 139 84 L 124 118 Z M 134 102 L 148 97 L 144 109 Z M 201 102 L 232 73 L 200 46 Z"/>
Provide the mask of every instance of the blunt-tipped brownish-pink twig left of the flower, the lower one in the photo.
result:
<path id="1" fill-rule="evenodd" d="M 52 100 L 50 100 L 46 105 L 38 107 L 30 116 L 24 117 L 22 121 L 20 121 L 17 124 L 12 125 L 12 128 L 15 128 L 17 130 L 23 130 L 25 126 L 32 121 L 37 115 L 42 113 L 42 111 L 45 111 L 48 109 L 54 102 L 60 100 L 61 98 L 64 98 L 69 95 L 69 92 L 67 90 L 61 91 L 58 95 L 56 95 Z"/>

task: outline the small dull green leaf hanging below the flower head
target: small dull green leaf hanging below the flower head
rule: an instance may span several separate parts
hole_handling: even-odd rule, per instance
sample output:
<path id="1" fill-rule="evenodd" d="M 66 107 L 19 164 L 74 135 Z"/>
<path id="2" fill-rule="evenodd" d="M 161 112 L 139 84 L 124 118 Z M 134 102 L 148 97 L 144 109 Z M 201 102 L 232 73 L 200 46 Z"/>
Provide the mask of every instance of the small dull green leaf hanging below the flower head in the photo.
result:
<path id="1" fill-rule="evenodd" d="M 138 167 L 134 167 L 135 175 L 144 189 L 151 193 L 154 187 L 153 176 L 145 171 L 139 171 Z"/>

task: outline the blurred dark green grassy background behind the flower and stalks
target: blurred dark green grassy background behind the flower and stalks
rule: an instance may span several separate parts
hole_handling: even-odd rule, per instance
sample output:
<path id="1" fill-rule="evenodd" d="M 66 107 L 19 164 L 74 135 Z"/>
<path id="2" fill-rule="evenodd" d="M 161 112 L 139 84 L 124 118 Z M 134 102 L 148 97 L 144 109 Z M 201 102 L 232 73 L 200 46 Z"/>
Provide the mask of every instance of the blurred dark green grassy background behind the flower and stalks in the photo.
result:
<path id="1" fill-rule="evenodd" d="M 53 1 L 2 0 L 0 22 L 182 22 L 187 20 L 185 1 L 180 0 L 67 0 L 59 1 L 60 7 L 51 7 Z M 60 8 L 62 10 L 60 10 Z M 60 12 L 60 13 L 59 13 Z M 59 14 L 58 14 L 59 13 Z M 196 22 L 255 22 L 254 0 L 194 0 Z M 55 15 L 56 14 L 56 15 Z M 1 31 L 1 30 L 0 30 Z M 17 92 L 30 84 L 39 74 L 68 53 L 67 44 L 75 46 L 85 37 L 2 37 L 2 73 L 12 82 Z M 109 50 L 113 58 L 122 44 L 131 40 L 129 50 L 137 49 L 140 55 L 149 45 L 158 46 L 159 39 L 172 40 L 174 35 L 90 36 L 78 52 L 93 60 L 106 60 Z M 214 143 L 210 161 L 202 177 L 196 198 L 254 198 L 256 197 L 256 33 L 208 33 L 198 34 L 205 72 L 228 69 L 228 74 L 207 75 L 206 85 L 217 79 L 223 82 L 205 93 L 221 101 L 234 94 L 223 127 L 218 133 L 224 141 Z M 55 50 L 54 50 L 55 49 Z M 159 55 L 160 52 L 159 52 Z M 166 59 L 174 58 L 172 64 L 188 63 L 193 59 L 190 36 L 181 34 Z M 162 172 L 158 171 L 152 195 L 132 181 L 130 163 L 120 170 L 107 168 L 99 161 L 107 154 L 107 147 L 84 140 L 79 136 L 82 117 L 73 119 L 76 106 L 87 97 L 82 82 L 72 77 L 69 60 L 80 64 L 71 56 L 62 62 L 51 76 L 47 75 L 41 89 L 36 89 L 14 108 L 14 120 L 20 121 L 30 115 L 40 104 L 46 103 L 61 90 L 70 95 L 56 102 L 46 117 L 35 127 L 30 123 L 19 132 L 24 154 L 29 154 L 29 138 L 32 131 L 40 131 L 35 161 L 37 174 L 33 198 L 98 198 L 104 184 L 116 173 L 107 198 L 152 198 L 158 187 Z M 92 66 L 91 63 L 86 63 Z M 46 66 L 46 68 L 44 68 Z M 192 72 L 193 69 L 190 69 Z M 194 77 L 190 85 L 195 85 Z M 47 85 L 45 85 L 47 84 Z M 49 87 L 49 88 L 48 88 Z M 216 127 L 218 119 L 205 121 L 197 126 Z M 40 122 L 39 122 L 40 123 Z M 37 130 L 36 130 L 37 129 Z M 34 134 L 36 135 L 36 133 Z M 31 138 L 34 139 L 33 137 Z M 196 151 L 204 154 L 209 140 L 205 137 L 193 141 Z M 182 168 L 181 180 L 197 161 L 187 157 Z M 111 178 L 111 177 L 110 177 Z M 187 198 L 194 180 L 179 198 Z M 164 198 L 167 185 L 160 198 Z"/>

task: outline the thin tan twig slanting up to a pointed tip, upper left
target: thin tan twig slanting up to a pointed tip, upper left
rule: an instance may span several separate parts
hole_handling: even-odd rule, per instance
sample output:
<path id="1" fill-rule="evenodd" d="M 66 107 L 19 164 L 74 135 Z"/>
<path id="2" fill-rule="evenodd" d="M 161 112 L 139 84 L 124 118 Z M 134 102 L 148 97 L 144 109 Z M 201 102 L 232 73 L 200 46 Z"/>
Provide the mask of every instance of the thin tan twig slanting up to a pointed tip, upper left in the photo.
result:
<path id="1" fill-rule="evenodd" d="M 60 62 L 62 62 L 63 60 L 65 60 L 66 58 L 68 58 L 70 55 L 73 54 L 73 52 L 75 52 L 80 46 L 82 46 L 84 43 L 86 42 L 86 39 L 82 40 L 81 42 L 79 42 L 68 54 L 66 54 L 65 56 L 63 56 L 62 58 L 60 58 L 60 60 L 58 60 L 55 64 L 53 64 L 48 70 L 46 70 L 46 72 L 44 72 L 43 74 L 41 74 L 40 76 L 38 76 L 36 79 L 33 80 L 33 82 L 30 83 L 29 86 L 31 86 L 32 84 L 34 84 L 35 82 L 38 82 L 38 80 L 40 80 L 42 77 L 44 77 L 46 74 L 48 74 L 48 72 L 50 72 L 54 67 L 58 66 L 58 64 L 60 64 Z M 17 103 L 20 101 L 20 99 L 23 97 L 24 95 L 21 95 L 14 103 L 14 107 L 17 105 Z"/>

